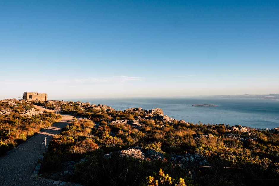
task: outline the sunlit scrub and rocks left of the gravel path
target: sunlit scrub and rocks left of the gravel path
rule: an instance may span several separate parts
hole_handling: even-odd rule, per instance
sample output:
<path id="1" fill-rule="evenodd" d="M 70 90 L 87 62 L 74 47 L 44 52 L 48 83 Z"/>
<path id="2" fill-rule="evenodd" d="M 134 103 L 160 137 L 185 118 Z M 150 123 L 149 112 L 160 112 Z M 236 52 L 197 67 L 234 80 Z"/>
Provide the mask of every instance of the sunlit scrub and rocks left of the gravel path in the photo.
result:
<path id="1" fill-rule="evenodd" d="M 60 115 L 50 112 L 23 117 L 22 113 L 34 108 L 29 101 L 1 100 L 0 111 L 0 154 L 11 150 L 18 144 L 25 142 L 28 138 L 47 128 L 61 119 Z"/>

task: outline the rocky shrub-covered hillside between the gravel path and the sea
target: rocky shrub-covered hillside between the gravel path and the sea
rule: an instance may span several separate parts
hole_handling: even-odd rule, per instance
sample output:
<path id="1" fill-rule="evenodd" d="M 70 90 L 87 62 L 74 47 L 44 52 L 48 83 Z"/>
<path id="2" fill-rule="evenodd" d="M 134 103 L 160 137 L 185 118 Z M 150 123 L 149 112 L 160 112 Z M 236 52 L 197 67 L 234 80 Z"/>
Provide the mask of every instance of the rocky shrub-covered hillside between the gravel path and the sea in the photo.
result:
<path id="1" fill-rule="evenodd" d="M 82 102 L 42 105 L 83 117 L 50 142 L 43 166 L 51 179 L 83 185 L 278 182 L 278 129 L 248 132 L 240 125 L 193 124 L 170 118 L 159 108 L 122 112 Z"/>

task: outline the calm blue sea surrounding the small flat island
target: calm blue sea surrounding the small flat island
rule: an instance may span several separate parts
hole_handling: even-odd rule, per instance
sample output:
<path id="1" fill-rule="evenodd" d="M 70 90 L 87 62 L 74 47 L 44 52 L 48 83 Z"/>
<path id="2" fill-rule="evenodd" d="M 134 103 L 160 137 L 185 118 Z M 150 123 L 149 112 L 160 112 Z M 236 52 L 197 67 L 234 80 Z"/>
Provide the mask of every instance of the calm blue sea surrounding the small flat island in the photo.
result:
<path id="1" fill-rule="evenodd" d="M 116 110 L 141 107 L 161 108 L 165 115 L 186 122 L 242 125 L 252 128 L 279 127 L 279 100 L 252 98 L 107 98 L 69 99 L 70 101 L 105 104 Z M 217 107 L 195 107 L 213 104 Z"/>

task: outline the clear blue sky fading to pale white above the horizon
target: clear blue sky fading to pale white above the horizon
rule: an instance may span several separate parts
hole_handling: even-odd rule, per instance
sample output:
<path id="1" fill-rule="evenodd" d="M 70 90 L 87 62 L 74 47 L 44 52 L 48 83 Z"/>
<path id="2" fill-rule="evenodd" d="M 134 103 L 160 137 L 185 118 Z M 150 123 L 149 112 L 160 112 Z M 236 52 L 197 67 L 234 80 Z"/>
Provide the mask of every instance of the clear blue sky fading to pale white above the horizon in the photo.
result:
<path id="1" fill-rule="evenodd" d="M 279 93 L 279 1 L 0 0 L 0 99 Z"/>

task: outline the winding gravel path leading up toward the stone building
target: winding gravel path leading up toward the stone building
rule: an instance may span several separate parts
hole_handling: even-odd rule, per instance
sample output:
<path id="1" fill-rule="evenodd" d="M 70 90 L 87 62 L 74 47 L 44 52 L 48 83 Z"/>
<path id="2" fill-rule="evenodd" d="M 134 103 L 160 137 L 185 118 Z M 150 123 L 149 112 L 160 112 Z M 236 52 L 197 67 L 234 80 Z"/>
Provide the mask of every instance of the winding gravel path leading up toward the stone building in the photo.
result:
<path id="1" fill-rule="evenodd" d="M 39 106 L 36 106 L 36 108 L 53 112 L 53 110 L 42 109 Z M 52 136 L 60 133 L 61 128 L 69 125 L 74 120 L 72 115 L 61 115 L 62 120 L 60 122 L 54 123 L 7 154 L 0 156 L 0 186 L 54 185 L 47 181 L 38 181 L 31 175 L 40 158 L 40 144 L 45 140 L 45 137 L 48 144 Z"/>

